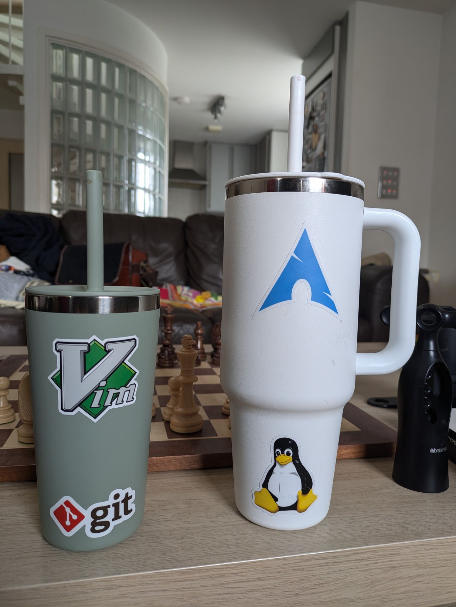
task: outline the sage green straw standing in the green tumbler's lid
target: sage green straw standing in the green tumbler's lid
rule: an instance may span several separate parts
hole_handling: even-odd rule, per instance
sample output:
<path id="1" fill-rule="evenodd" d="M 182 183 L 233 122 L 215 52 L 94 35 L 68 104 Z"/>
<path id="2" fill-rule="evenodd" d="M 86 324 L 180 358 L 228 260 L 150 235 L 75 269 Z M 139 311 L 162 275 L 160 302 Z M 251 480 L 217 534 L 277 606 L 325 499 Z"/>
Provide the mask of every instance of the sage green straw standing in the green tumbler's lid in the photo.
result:
<path id="1" fill-rule="evenodd" d="M 103 173 L 86 171 L 87 192 L 87 291 L 103 287 Z"/>

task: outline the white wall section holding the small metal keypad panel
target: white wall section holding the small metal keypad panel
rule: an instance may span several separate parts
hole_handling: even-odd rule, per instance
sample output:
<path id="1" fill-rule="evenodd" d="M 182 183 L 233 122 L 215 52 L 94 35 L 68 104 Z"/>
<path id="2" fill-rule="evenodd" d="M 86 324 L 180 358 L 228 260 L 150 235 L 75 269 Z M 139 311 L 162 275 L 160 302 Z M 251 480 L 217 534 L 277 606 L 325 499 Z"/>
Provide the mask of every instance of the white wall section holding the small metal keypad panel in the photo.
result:
<path id="1" fill-rule="evenodd" d="M 342 172 L 366 183 L 365 206 L 409 215 L 429 262 L 441 16 L 355 2 L 350 8 Z M 398 200 L 377 198 L 379 166 L 401 170 Z M 386 232 L 364 232 L 363 256 L 393 252 Z"/>

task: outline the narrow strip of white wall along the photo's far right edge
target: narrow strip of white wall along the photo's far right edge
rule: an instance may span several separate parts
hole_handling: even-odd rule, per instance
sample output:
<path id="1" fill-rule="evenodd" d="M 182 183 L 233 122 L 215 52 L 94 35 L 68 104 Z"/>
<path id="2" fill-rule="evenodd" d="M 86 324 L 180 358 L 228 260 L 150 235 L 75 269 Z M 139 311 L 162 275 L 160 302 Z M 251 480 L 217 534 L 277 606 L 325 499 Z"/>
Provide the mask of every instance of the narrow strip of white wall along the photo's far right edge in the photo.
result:
<path id="1" fill-rule="evenodd" d="M 431 300 L 456 306 L 456 7 L 443 15 L 437 88 L 429 266 L 440 273 Z"/>

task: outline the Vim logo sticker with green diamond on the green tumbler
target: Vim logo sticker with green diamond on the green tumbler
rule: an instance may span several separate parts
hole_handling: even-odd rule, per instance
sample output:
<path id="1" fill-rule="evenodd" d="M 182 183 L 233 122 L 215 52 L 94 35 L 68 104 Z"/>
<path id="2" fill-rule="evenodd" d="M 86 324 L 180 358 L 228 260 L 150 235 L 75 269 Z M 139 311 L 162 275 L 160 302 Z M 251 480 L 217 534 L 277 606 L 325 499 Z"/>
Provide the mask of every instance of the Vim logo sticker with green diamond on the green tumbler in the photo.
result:
<path id="1" fill-rule="evenodd" d="M 59 411 L 78 411 L 96 422 L 110 409 L 136 400 L 138 370 L 129 362 L 138 347 L 138 337 L 55 339 L 57 368 L 49 381 L 58 391 Z"/>

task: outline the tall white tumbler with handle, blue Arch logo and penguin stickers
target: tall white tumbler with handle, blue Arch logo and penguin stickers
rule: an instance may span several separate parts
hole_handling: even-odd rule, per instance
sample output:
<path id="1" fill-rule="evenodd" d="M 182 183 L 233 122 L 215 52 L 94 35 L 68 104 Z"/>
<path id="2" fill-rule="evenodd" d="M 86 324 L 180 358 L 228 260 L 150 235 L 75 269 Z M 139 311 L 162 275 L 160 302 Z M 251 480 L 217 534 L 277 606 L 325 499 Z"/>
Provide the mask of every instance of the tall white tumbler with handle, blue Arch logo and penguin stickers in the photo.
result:
<path id="1" fill-rule="evenodd" d="M 325 517 L 356 374 L 391 373 L 413 350 L 420 236 L 363 197 L 362 181 L 333 173 L 226 184 L 220 378 L 236 505 L 264 527 Z M 390 337 L 374 354 L 356 353 L 362 229 L 394 240 Z"/>

